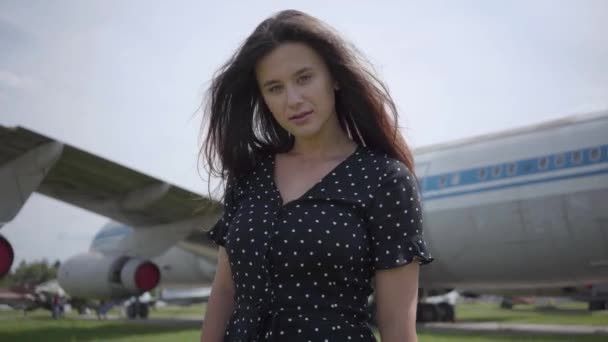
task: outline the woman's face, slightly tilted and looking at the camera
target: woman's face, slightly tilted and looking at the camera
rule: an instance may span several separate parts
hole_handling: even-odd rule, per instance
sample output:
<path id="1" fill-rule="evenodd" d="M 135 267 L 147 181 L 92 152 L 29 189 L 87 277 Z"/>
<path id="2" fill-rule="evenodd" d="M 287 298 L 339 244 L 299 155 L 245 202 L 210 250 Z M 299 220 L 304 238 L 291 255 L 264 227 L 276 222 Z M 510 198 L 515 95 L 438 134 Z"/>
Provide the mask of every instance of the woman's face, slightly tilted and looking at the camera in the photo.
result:
<path id="1" fill-rule="evenodd" d="M 280 45 L 257 63 L 255 72 L 266 106 L 296 138 L 340 129 L 335 82 L 321 56 L 308 45 Z"/>

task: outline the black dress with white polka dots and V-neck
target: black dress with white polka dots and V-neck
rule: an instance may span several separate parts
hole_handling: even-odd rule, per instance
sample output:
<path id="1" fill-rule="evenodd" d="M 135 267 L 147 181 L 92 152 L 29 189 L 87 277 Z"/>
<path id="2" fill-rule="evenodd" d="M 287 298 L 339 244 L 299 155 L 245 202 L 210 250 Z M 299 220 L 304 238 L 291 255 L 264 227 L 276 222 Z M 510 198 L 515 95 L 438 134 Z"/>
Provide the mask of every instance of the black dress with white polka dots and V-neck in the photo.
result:
<path id="1" fill-rule="evenodd" d="M 375 341 L 367 324 L 377 269 L 433 260 L 416 179 L 359 146 L 300 198 L 282 203 L 274 156 L 229 181 L 209 231 L 224 246 L 235 308 L 224 341 Z"/>

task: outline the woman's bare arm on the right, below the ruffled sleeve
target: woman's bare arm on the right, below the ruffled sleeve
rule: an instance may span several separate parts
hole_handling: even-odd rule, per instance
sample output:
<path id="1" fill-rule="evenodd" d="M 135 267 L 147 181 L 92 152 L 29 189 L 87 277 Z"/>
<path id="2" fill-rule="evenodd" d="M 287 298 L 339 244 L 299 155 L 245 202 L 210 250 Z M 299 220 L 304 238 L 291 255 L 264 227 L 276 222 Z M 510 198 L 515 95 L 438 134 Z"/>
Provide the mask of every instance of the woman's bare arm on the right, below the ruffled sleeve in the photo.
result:
<path id="1" fill-rule="evenodd" d="M 376 270 L 376 317 L 382 342 L 416 342 L 418 273 L 416 259 L 411 263 Z"/>

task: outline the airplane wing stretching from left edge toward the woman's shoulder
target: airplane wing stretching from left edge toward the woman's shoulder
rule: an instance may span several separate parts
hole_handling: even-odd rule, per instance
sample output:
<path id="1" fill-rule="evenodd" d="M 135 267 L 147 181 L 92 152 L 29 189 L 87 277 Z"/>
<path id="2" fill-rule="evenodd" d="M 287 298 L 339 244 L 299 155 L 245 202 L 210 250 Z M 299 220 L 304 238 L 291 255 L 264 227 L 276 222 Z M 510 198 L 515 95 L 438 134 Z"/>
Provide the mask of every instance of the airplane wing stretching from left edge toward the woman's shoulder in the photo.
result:
<path id="1" fill-rule="evenodd" d="M 136 230 L 177 222 L 209 226 L 209 218 L 221 213 L 216 200 L 21 127 L 0 126 L 0 166 L 51 143 L 61 144 L 62 151 L 36 189 L 41 194 Z M 188 233 L 179 240 L 186 237 L 190 244 L 210 243 L 202 229 Z M 178 241 L 165 242 L 172 245 Z"/>

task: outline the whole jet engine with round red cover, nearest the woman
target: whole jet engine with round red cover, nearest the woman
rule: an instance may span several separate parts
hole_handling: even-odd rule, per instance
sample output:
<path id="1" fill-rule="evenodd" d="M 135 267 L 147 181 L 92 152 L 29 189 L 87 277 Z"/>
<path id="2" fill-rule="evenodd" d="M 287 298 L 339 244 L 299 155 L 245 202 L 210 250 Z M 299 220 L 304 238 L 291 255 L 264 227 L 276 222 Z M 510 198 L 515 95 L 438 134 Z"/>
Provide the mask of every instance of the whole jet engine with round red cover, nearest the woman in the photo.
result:
<path id="1" fill-rule="evenodd" d="M 73 297 L 124 298 L 155 288 L 160 282 L 160 269 L 139 258 L 89 252 L 62 263 L 58 279 Z"/>

